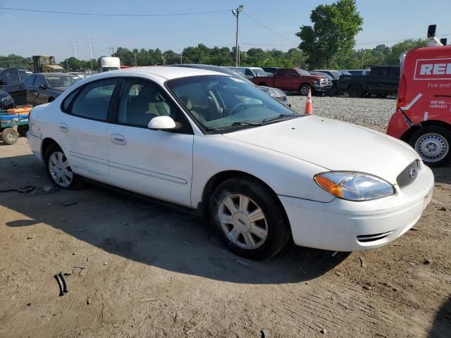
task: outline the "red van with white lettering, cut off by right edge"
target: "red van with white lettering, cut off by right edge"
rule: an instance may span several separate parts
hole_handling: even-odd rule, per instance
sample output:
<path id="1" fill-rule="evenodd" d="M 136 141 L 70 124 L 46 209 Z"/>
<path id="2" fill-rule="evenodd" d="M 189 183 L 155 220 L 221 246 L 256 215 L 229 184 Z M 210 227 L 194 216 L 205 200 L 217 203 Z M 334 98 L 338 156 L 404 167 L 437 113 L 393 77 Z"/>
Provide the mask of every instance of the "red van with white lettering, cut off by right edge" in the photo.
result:
<path id="1" fill-rule="evenodd" d="M 451 46 L 439 43 L 401 56 L 397 107 L 387 134 L 408 142 L 426 165 L 451 160 Z"/>

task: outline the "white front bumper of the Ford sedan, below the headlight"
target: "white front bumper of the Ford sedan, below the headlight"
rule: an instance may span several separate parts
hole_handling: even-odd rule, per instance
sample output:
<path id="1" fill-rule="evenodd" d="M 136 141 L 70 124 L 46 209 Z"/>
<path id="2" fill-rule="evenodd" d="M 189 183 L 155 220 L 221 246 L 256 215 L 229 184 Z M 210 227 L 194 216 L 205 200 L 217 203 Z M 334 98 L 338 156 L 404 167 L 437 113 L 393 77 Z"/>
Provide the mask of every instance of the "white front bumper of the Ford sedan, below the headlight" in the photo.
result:
<path id="1" fill-rule="evenodd" d="M 416 180 L 383 199 L 329 203 L 279 196 L 295 244 L 331 251 L 375 249 L 402 236 L 421 217 L 432 198 L 431 169 L 421 165 Z"/>

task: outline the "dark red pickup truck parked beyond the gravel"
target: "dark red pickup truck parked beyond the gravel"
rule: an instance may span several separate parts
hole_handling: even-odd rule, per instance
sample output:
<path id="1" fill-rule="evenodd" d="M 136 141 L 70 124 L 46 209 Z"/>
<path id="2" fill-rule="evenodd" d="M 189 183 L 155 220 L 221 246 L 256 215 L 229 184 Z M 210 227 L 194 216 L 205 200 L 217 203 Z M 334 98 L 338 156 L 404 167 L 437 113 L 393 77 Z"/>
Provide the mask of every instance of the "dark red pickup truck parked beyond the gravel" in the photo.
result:
<path id="1" fill-rule="evenodd" d="M 311 75 L 307 70 L 299 68 L 279 68 L 274 76 L 252 77 L 252 82 L 287 92 L 299 92 L 304 96 L 308 94 L 309 89 L 314 93 L 326 93 L 332 89 L 332 79 L 322 75 Z"/>

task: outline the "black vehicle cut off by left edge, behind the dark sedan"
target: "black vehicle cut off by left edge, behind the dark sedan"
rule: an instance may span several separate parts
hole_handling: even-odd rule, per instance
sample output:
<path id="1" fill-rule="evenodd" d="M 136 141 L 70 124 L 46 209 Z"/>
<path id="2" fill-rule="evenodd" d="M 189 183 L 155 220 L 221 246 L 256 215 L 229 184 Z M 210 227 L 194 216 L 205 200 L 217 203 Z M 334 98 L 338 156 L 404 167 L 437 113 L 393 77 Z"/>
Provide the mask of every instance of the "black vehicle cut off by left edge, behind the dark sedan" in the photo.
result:
<path id="1" fill-rule="evenodd" d="M 23 82 L 32 72 L 22 68 L 0 68 L 0 89 L 8 92 L 18 105 L 27 104 Z"/>

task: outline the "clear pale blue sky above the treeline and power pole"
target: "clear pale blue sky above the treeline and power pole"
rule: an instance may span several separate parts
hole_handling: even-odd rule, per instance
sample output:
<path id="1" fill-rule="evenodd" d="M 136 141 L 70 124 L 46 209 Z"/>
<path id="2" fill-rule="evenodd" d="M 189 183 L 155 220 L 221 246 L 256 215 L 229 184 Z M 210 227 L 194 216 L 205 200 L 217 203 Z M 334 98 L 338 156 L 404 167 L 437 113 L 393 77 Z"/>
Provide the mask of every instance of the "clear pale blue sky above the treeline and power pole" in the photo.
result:
<path id="1" fill-rule="evenodd" d="M 180 16 L 116 17 L 67 15 L 0 9 L 0 55 L 54 55 L 56 61 L 74 56 L 90 57 L 88 36 L 94 58 L 111 54 L 109 47 L 129 49 L 171 49 L 180 52 L 199 43 L 206 46 L 235 46 L 236 19 L 231 13 L 238 4 L 240 46 L 287 51 L 299 45 L 295 32 L 310 25 L 316 0 L 0 0 L 0 7 L 44 11 L 123 14 L 173 14 L 216 12 Z M 450 0 L 357 0 L 364 18 L 356 48 L 388 46 L 401 39 L 425 37 L 427 27 L 437 24 L 437 36 L 451 43 Z M 253 20 L 252 20 L 253 19 Z M 257 22 L 258 23 L 257 23 Z M 263 27 L 264 26 L 264 27 Z"/>

